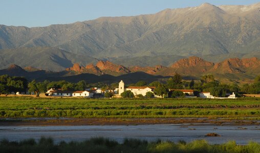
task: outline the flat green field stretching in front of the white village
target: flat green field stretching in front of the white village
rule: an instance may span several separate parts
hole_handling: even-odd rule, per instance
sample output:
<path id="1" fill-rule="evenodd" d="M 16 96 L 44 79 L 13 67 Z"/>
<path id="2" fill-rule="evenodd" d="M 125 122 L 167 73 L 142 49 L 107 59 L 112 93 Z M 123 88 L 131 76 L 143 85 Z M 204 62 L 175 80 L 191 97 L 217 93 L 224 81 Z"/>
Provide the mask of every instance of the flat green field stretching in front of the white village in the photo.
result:
<path id="1" fill-rule="evenodd" d="M 260 118 L 260 98 L 86 99 L 0 97 L 1 118 Z"/>

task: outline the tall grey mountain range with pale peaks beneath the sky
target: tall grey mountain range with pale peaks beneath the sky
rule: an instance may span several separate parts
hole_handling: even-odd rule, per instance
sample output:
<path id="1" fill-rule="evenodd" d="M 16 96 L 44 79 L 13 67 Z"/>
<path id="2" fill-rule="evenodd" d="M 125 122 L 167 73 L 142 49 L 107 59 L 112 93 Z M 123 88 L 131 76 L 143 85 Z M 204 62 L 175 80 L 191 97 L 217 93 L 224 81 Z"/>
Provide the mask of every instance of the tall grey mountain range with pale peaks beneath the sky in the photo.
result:
<path id="1" fill-rule="evenodd" d="M 62 71 L 74 63 L 97 64 L 101 60 L 125 67 L 162 65 L 159 67 L 162 70 L 154 74 L 166 75 L 166 66 L 175 69 L 172 63 L 190 56 L 211 63 L 227 58 L 260 58 L 259 35 L 260 3 L 248 6 L 205 3 L 156 14 L 100 17 L 48 27 L 0 25 L 0 68 L 14 63 Z"/>

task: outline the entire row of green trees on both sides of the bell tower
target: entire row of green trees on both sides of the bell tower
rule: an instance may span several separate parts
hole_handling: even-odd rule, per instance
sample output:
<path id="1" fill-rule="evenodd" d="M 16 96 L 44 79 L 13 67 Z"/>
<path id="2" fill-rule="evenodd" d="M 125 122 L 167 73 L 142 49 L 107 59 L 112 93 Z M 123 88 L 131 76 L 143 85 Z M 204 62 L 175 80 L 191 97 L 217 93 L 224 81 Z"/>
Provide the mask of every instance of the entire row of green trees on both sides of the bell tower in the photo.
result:
<path id="1" fill-rule="evenodd" d="M 241 84 L 236 83 L 225 84 L 214 79 L 212 74 L 203 75 L 200 81 L 191 80 L 183 81 L 180 74 L 175 74 L 173 77 L 161 81 L 155 81 L 152 83 L 147 83 L 145 81 L 138 81 L 135 84 L 128 84 L 128 86 L 154 86 L 155 94 L 167 97 L 183 97 L 180 91 L 170 91 L 168 89 L 193 89 L 194 95 L 199 94 L 199 92 L 206 91 L 210 92 L 211 95 L 216 97 L 224 97 L 226 93 L 234 92 L 236 95 L 240 94 L 259 94 L 260 93 L 260 75 L 255 78 L 254 82 L 251 84 Z M 109 91 L 106 93 L 107 97 L 113 95 L 113 90 L 118 88 L 118 83 L 104 84 L 101 82 L 95 84 L 88 84 L 85 81 L 79 81 L 78 83 L 70 83 L 67 81 L 44 81 L 36 82 L 35 80 L 28 82 L 24 77 L 10 77 L 9 75 L 0 75 L 0 94 L 9 94 L 11 92 L 26 92 L 38 95 L 39 93 L 45 93 L 50 88 L 61 89 L 61 90 L 85 90 L 86 88 L 98 87 L 104 91 Z M 132 95 L 131 93 L 127 93 Z M 148 93 L 147 96 L 152 96 Z M 139 95 L 141 97 L 141 95 Z"/>

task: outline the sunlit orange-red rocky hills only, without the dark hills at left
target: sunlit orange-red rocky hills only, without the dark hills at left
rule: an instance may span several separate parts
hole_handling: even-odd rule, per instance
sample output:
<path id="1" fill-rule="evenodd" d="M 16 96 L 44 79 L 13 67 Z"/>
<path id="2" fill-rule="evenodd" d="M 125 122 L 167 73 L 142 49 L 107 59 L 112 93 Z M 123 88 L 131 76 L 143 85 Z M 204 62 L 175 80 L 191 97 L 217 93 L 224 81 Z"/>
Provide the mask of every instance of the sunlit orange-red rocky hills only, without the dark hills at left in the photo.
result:
<path id="1" fill-rule="evenodd" d="M 173 76 L 176 73 L 184 77 L 200 78 L 203 74 L 214 74 L 219 80 L 241 81 L 252 80 L 260 74 L 260 60 L 257 58 L 247 59 L 227 59 L 219 63 L 213 63 L 203 60 L 199 57 L 189 57 L 181 59 L 169 67 L 157 65 L 154 67 L 132 66 L 125 67 L 114 64 L 110 61 L 99 61 L 96 65 L 89 64 L 85 67 L 74 64 L 73 67 L 67 68 L 67 71 L 80 73 L 93 73 L 96 75 L 111 74 L 119 76 L 132 72 L 145 72 L 153 75 Z M 233 79 L 230 76 L 234 75 Z M 235 77 L 235 75 L 237 75 Z"/>

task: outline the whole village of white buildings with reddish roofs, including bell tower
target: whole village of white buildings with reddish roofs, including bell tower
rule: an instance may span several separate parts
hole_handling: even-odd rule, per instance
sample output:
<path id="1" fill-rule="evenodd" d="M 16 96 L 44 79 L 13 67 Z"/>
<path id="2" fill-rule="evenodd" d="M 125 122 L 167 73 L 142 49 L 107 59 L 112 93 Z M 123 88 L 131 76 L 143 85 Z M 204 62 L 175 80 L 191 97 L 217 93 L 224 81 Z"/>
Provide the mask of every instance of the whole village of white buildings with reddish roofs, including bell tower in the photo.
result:
<path id="1" fill-rule="evenodd" d="M 129 86 L 125 87 L 124 82 L 121 80 L 118 84 L 118 88 L 113 90 L 113 97 L 120 98 L 121 94 L 125 91 L 131 91 L 135 97 L 137 95 L 146 96 L 147 92 L 151 92 L 154 94 L 154 97 L 160 97 L 159 95 L 156 95 L 154 93 L 156 87 L 142 87 L 142 86 Z M 181 91 L 185 94 L 185 98 L 217 98 L 217 99 L 223 99 L 223 98 L 236 98 L 234 92 L 232 94 L 227 93 L 226 97 L 215 97 L 210 94 L 210 92 L 200 92 L 199 96 L 194 95 L 194 90 L 191 89 L 168 89 L 169 91 Z M 59 97 L 85 97 L 85 98 L 101 98 L 104 97 L 105 92 L 111 92 L 110 90 L 101 90 L 101 88 L 89 88 L 85 89 L 84 91 L 64 91 L 61 89 L 49 89 L 46 92 L 46 96 L 59 96 Z"/>

